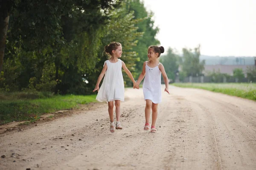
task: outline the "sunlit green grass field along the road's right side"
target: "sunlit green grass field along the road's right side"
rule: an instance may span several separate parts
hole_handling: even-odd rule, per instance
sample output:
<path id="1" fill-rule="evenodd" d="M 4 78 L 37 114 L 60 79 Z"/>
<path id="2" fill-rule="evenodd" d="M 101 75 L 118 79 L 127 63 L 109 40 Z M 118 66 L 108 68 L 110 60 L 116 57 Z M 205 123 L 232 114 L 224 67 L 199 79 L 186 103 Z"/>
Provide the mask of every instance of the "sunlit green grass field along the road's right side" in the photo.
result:
<path id="1" fill-rule="evenodd" d="M 174 83 L 182 88 L 201 88 L 256 101 L 256 83 Z"/>

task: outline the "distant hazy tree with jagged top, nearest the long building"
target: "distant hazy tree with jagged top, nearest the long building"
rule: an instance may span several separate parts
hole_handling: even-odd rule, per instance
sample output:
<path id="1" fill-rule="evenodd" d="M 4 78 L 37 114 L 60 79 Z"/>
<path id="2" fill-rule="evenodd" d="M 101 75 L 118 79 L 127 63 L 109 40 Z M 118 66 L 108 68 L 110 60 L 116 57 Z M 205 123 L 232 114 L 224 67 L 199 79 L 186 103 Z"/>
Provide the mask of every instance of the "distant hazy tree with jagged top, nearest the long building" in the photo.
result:
<path id="1" fill-rule="evenodd" d="M 204 70 L 205 60 L 200 62 L 200 45 L 192 51 L 183 48 L 183 64 L 182 70 L 187 76 L 200 76 Z"/>

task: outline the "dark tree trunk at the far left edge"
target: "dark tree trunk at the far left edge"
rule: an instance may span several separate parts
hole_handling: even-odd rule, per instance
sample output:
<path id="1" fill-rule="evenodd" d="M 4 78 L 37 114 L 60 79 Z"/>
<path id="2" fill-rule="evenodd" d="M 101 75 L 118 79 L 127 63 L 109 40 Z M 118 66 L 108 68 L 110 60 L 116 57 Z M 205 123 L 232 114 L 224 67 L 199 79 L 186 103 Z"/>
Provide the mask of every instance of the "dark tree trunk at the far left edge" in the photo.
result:
<path id="1" fill-rule="evenodd" d="M 9 15 L 5 18 L 0 16 L 0 73 L 3 69 L 3 57 L 4 57 L 8 25 L 9 25 Z"/>

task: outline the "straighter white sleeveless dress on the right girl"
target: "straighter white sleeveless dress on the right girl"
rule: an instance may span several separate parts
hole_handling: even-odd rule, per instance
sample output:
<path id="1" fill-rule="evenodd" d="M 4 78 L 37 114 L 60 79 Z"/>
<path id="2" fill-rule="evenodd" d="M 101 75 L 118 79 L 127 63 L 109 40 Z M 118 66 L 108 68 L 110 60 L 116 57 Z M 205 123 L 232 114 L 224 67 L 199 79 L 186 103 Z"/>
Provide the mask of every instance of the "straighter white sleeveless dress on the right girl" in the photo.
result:
<path id="1" fill-rule="evenodd" d="M 151 68 L 147 65 L 146 62 L 146 73 L 143 82 L 144 99 L 151 100 L 155 104 L 160 103 L 162 101 L 161 71 L 159 70 L 158 65 L 154 68 Z"/>

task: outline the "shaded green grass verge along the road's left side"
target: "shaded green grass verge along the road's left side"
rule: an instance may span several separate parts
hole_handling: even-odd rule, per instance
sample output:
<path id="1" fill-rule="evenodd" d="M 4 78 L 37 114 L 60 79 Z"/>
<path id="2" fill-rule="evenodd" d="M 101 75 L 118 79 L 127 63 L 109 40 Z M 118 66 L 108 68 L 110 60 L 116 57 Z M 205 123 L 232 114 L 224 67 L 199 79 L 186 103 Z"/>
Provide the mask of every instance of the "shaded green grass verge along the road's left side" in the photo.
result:
<path id="1" fill-rule="evenodd" d="M 96 102 L 96 95 L 52 96 L 42 99 L 0 100 L 0 125 L 12 121 L 36 121 L 42 113 L 79 108 L 78 104 Z"/>

